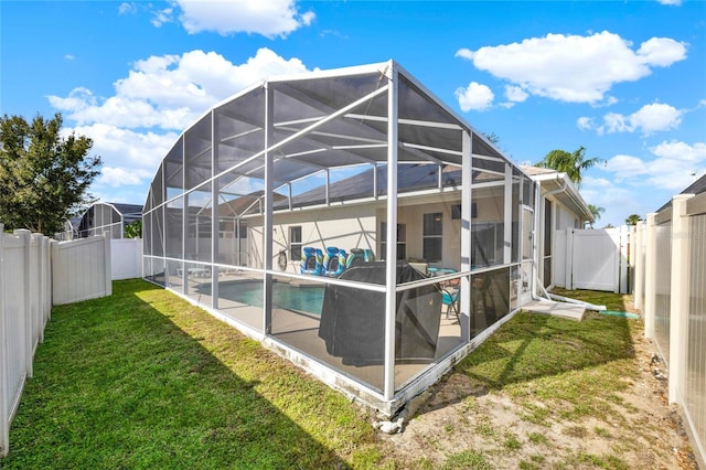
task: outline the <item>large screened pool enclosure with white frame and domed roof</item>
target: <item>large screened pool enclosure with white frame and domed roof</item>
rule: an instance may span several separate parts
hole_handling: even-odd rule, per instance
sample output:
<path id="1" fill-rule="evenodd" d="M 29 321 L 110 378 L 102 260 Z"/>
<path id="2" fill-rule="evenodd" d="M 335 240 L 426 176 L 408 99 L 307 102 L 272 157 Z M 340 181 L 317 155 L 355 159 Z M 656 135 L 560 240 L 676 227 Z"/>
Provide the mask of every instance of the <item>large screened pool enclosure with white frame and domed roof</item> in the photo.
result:
<path id="1" fill-rule="evenodd" d="M 272 77 L 164 157 L 143 269 L 393 415 L 531 299 L 535 199 L 394 61 Z"/>

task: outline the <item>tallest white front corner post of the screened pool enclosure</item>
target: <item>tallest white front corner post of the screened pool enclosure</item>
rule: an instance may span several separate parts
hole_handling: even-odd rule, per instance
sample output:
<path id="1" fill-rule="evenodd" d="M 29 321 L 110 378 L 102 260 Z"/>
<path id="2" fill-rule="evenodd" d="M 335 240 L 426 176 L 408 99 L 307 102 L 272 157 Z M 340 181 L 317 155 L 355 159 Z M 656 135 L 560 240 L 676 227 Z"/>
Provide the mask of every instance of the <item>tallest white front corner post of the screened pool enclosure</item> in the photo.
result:
<path id="1" fill-rule="evenodd" d="M 385 253 L 385 400 L 395 395 L 395 313 L 397 310 L 397 89 L 398 70 L 391 61 L 385 75 L 387 90 L 387 246 Z"/>

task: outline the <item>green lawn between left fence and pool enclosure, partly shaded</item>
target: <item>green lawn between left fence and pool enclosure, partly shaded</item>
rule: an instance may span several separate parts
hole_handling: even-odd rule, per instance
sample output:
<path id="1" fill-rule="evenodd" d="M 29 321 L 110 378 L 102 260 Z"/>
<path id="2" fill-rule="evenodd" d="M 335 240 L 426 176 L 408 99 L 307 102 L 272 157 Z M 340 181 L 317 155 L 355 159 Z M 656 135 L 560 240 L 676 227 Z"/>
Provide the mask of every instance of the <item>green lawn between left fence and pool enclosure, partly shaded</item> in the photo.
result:
<path id="1" fill-rule="evenodd" d="M 373 440 L 341 394 L 128 280 L 53 309 L 0 468 L 346 468 Z"/>

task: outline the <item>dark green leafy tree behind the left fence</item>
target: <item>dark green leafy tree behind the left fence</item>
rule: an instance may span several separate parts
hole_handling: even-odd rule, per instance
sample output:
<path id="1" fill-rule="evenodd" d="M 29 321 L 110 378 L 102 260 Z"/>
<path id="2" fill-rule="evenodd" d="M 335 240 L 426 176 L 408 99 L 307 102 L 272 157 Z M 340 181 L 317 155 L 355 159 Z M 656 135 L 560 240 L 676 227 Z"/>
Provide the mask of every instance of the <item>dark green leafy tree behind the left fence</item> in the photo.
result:
<path id="1" fill-rule="evenodd" d="M 29 228 L 47 235 L 92 202 L 88 186 L 100 157 L 88 157 L 93 140 L 62 137 L 61 114 L 0 118 L 0 222 L 8 229 Z"/>

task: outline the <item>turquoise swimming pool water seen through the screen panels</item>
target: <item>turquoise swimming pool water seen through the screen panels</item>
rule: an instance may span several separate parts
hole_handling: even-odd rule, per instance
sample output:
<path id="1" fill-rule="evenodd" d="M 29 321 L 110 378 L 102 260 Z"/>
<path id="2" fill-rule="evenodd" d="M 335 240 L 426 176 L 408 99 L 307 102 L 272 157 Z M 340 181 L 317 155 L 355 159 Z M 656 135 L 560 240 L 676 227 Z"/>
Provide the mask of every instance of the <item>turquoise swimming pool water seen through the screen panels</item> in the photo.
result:
<path id="1" fill-rule="evenodd" d="M 272 282 L 272 307 L 321 316 L 323 285 L 293 286 Z M 248 306 L 263 307 L 263 281 L 240 280 L 218 284 L 218 297 Z"/>

